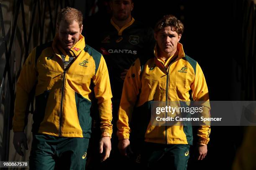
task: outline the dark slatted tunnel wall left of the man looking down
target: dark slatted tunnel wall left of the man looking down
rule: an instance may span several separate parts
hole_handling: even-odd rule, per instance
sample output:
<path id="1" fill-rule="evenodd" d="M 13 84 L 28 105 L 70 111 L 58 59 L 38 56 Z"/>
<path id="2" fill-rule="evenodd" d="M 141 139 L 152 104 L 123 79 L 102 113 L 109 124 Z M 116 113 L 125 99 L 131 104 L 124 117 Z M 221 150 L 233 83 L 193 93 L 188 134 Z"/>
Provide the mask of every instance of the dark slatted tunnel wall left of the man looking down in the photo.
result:
<path id="1" fill-rule="evenodd" d="M 15 85 L 28 54 L 37 45 L 49 42 L 55 35 L 57 12 L 72 0 L 1 0 L 0 1 L 0 160 L 28 160 L 13 147 L 12 118 Z M 44 25 L 44 26 L 41 26 Z M 28 113 L 33 113 L 33 100 Z M 32 116 L 28 116 L 28 145 L 31 144 Z"/>

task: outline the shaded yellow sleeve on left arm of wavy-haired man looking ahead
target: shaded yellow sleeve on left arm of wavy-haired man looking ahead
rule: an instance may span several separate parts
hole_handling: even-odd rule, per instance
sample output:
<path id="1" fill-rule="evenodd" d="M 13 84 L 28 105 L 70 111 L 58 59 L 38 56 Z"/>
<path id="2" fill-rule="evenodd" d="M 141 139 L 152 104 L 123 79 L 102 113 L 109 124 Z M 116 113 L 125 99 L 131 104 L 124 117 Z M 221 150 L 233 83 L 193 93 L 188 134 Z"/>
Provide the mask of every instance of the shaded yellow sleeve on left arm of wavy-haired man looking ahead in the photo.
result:
<path id="1" fill-rule="evenodd" d="M 141 89 L 141 64 L 137 59 L 128 70 L 123 84 L 123 92 L 120 101 L 117 121 L 117 136 L 119 140 L 129 139 L 131 116 L 136 104 L 139 90 Z"/>

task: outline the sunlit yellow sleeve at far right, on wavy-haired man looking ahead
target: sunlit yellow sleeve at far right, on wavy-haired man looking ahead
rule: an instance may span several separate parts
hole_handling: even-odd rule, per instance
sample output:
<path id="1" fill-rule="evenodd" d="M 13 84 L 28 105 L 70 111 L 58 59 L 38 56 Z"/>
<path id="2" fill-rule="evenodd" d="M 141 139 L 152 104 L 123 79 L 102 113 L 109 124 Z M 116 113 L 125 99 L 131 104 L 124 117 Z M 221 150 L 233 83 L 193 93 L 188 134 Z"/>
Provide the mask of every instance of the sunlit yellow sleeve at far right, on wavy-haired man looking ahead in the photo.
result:
<path id="1" fill-rule="evenodd" d="M 200 65 L 197 63 L 196 65 L 196 73 L 195 73 L 195 80 L 191 85 L 192 89 L 192 98 L 194 101 L 204 101 L 202 102 L 203 112 L 202 116 L 210 117 L 210 102 L 209 102 L 209 93 L 207 84 L 205 81 L 205 76 L 202 72 Z M 202 125 L 197 130 L 197 136 L 199 138 L 199 144 L 207 144 L 210 140 L 210 123 L 208 125 Z"/>

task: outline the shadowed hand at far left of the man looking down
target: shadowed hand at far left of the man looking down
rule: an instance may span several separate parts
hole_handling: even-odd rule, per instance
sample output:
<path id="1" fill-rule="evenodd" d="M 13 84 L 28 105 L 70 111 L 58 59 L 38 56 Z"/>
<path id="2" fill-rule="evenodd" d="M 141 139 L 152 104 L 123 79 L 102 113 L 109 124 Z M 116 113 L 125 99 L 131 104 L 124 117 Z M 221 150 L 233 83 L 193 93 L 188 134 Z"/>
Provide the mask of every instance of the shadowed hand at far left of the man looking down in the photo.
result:
<path id="1" fill-rule="evenodd" d="M 16 150 L 16 152 L 24 156 L 24 153 L 22 152 L 21 144 L 23 143 L 26 150 L 28 150 L 28 144 L 27 144 L 27 138 L 24 132 L 15 132 L 13 136 L 13 145 Z"/>

